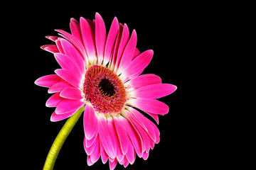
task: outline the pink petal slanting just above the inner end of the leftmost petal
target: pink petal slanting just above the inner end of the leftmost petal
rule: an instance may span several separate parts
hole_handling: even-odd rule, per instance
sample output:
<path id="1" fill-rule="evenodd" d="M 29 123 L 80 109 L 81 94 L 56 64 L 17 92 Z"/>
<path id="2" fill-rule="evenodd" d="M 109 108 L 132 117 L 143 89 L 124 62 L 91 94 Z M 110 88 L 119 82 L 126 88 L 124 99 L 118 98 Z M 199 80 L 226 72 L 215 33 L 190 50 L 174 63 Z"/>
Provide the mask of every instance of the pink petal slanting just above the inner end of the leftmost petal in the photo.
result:
<path id="1" fill-rule="evenodd" d="M 65 81 L 68 81 L 68 83 L 72 84 L 75 87 L 80 88 L 81 77 L 78 77 L 78 75 L 74 74 L 73 72 L 70 72 L 70 70 L 56 69 L 55 73 L 58 74 L 59 77 L 65 79 Z"/>

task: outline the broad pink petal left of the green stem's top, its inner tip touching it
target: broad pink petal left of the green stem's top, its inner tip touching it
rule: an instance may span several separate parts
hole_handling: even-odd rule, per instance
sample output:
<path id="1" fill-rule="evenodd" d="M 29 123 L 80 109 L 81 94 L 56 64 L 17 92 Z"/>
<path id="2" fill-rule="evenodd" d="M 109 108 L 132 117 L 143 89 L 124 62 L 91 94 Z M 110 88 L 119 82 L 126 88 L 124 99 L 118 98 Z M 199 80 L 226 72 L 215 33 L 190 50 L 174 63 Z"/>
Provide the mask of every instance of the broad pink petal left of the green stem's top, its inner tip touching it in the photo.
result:
<path id="1" fill-rule="evenodd" d="M 85 103 L 80 100 L 63 99 L 58 103 L 56 114 L 64 114 L 70 111 L 78 111 Z"/>

